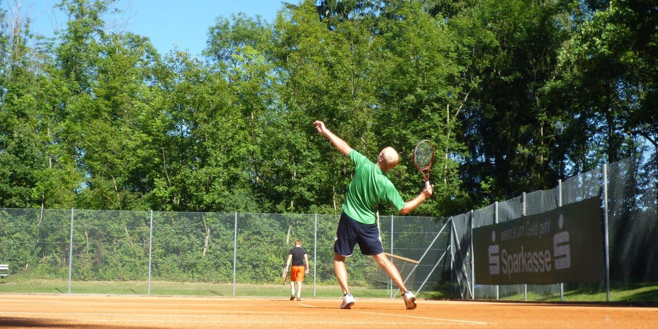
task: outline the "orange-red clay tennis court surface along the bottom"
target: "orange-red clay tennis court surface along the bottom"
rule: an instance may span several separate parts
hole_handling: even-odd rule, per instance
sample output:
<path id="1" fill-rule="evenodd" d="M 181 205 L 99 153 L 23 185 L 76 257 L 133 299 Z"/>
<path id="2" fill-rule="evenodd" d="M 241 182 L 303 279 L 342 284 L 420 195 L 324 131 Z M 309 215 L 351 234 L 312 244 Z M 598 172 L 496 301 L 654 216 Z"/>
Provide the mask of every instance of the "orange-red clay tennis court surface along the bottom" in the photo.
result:
<path id="1" fill-rule="evenodd" d="M 0 295 L 4 328 L 656 328 L 658 308 L 399 299 Z"/>

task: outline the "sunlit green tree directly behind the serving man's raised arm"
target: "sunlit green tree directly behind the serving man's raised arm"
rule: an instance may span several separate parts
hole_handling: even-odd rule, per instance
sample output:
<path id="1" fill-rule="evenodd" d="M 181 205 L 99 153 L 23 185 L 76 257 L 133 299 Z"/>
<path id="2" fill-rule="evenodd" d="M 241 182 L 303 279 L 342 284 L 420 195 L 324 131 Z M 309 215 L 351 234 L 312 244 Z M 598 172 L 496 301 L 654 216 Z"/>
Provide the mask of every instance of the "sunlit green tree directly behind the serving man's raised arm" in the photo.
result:
<path id="1" fill-rule="evenodd" d="M 376 99 L 368 80 L 373 67 L 368 28 L 361 20 L 328 28 L 318 20 L 312 1 L 278 16 L 272 56 L 282 68 L 276 113 L 281 119 L 273 128 L 281 135 L 270 146 L 284 145 L 270 166 L 278 209 L 340 211 L 351 165 L 317 135 L 313 120 L 324 120 L 366 155 L 378 147 L 372 127 Z"/>

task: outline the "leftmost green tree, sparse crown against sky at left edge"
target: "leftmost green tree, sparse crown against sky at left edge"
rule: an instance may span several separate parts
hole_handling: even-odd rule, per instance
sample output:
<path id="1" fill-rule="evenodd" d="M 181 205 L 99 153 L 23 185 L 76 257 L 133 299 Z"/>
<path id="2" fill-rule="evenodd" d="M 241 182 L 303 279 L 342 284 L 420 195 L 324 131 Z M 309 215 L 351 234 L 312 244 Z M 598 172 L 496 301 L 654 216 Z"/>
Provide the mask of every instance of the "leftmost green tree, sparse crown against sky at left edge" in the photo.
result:
<path id="1" fill-rule="evenodd" d="M 30 47 L 29 20 L 3 19 L 0 42 L 0 204 L 3 207 L 72 207 L 80 178 L 63 147 L 57 86 L 39 74 L 51 67 L 43 49 Z"/>

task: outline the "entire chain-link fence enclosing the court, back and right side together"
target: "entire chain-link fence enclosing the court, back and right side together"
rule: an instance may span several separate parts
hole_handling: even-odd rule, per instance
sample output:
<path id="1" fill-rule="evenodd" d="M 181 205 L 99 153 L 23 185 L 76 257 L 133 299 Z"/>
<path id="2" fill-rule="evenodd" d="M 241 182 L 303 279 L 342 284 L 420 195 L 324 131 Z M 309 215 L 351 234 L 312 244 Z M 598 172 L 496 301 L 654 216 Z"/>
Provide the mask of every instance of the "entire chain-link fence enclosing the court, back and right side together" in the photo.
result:
<path id="1" fill-rule="evenodd" d="M 406 286 L 463 299 L 644 300 L 658 282 L 658 164 L 624 159 L 449 218 L 381 216 L 387 253 L 409 263 Z M 587 284 L 476 285 L 472 228 L 601 195 L 606 280 Z M 286 296 L 282 269 L 295 239 L 310 273 L 304 295 L 341 293 L 334 276 L 338 215 L 0 209 L 0 292 Z M 359 248 L 347 259 L 362 297 L 399 295 Z M 405 265 L 405 266 L 407 266 Z M 651 283 L 654 285 L 651 286 Z M 646 289 L 637 289 L 647 287 Z M 654 287 L 653 289 L 651 287 Z M 639 291 L 626 293 L 625 291 Z M 653 292 L 652 292 L 653 291 Z M 615 295 L 619 294 L 619 295 Z M 575 297 L 574 297 L 575 296 Z"/>

